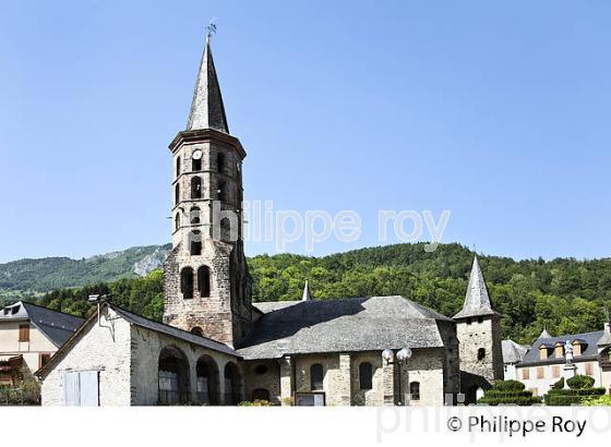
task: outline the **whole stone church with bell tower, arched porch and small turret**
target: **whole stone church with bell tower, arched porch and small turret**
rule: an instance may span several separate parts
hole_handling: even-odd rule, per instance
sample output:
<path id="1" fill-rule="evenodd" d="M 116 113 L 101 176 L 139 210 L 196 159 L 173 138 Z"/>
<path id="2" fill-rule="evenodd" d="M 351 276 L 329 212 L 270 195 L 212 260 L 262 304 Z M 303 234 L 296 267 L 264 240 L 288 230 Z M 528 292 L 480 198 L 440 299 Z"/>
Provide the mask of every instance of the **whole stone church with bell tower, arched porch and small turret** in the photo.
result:
<path id="1" fill-rule="evenodd" d="M 169 145 L 172 250 L 164 321 L 99 300 L 41 367 L 44 406 L 443 406 L 503 378 L 500 315 L 474 259 L 463 310 L 403 297 L 251 300 L 240 141 L 209 36 L 187 129 Z"/>

